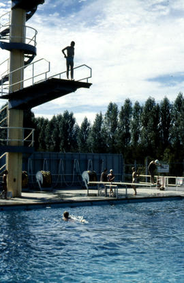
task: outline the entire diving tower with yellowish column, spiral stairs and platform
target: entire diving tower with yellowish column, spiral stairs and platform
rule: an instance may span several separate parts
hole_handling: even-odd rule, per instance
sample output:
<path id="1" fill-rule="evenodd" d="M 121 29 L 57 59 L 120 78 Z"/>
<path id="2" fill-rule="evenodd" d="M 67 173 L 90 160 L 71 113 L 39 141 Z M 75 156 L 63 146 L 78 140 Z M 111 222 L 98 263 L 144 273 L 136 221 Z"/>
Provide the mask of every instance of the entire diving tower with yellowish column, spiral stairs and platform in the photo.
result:
<path id="1" fill-rule="evenodd" d="M 69 81 L 62 79 L 65 72 L 48 77 L 50 62 L 46 59 L 33 62 L 37 31 L 25 24 L 36 12 L 37 5 L 43 3 L 44 0 L 12 0 L 11 11 L 0 17 L 0 47 L 10 51 L 10 59 L 2 63 L 7 64 L 7 70 L 0 81 L 0 98 L 8 100 L 7 126 L 1 127 L 0 122 L 0 129 L 7 131 L 7 137 L 3 139 L 6 145 L 0 146 L 0 152 L 5 152 L 1 157 L 6 156 L 6 164 L 0 171 L 7 168 L 7 189 L 12 191 L 13 197 L 21 196 L 22 192 L 22 153 L 33 152 L 34 130 L 23 128 L 24 109 L 42 105 L 80 87 L 91 86 L 88 82 L 91 68 L 85 64 L 76 68 L 87 68 L 89 75 L 78 81 Z M 46 62 L 47 69 L 35 75 L 35 65 L 41 61 Z M 31 76 L 25 77 L 26 68 L 31 68 Z"/>

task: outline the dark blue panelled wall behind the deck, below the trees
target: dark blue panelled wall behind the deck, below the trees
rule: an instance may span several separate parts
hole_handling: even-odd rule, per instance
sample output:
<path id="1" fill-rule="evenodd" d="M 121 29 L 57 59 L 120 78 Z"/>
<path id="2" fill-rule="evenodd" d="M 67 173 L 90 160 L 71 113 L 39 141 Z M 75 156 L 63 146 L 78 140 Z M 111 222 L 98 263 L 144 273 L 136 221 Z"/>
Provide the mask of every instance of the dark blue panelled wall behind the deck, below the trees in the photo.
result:
<path id="1" fill-rule="evenodd" d="M 84 171 L 95 171 L 97 180 L 104 168 L 113 169 L 115 180 L 123 180 L 123 156 L 121 154 L 34 152 L 23 158 L 22 170 L 27 171 L 29 186 L 37 185 L 35 174 L 50 171 L 54 187 L 80 186 Z"/>

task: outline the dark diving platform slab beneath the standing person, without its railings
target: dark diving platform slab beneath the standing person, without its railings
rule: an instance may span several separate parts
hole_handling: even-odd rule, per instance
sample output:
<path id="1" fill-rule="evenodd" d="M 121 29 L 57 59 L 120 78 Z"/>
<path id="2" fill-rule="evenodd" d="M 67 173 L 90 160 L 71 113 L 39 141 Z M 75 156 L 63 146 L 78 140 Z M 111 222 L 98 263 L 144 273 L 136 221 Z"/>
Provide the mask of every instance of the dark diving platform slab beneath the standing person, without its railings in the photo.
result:
<path id="1" fill-rule="evenodd" d="M 0 98 L 8 99 L 9 109 L 31 109 L 71 92 L 76 92 L 78 88 L 89 88 L 91 85 L 92 83 L 83 81 L 50 78 L 24 87 L 22 90 L 5 94 Z"/>

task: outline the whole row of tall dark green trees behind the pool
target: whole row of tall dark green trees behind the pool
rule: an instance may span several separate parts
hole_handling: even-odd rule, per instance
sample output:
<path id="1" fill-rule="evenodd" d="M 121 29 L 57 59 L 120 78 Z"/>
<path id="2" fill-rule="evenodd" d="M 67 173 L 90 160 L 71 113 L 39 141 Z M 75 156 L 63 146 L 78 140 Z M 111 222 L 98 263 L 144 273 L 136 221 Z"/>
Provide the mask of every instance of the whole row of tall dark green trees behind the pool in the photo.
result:
<path id="1" fill-rule="evenodd" d="M 4 111 L 0 120 L 3 116 Z M 172 103 L 167 97 L 160 103 L 149 97 L 144 104 L 136 101 L 133 105 L 127 98 L 119 109 L 111 102 L 104 115 L 97 113 L 93 123 L 85 117 L 80 126 L 74 113 L 67 110 L 52 116 L 51 120 L 35 118 L 32 111 L 25 111 L 24 127 L 35 129 L 37 151 L 120 153 L 126 163 L 134 163 L 134 160 L 144 163 L 145 157 L 183 163 L 184 98 L 181 92 Z"/>

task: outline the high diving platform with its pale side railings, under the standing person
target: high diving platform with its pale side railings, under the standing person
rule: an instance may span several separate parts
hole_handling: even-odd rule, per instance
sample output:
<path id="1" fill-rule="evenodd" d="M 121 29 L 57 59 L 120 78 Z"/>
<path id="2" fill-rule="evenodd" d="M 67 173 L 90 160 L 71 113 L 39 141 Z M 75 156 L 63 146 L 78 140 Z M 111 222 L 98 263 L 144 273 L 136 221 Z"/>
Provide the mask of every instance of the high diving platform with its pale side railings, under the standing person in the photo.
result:
<path id="1" fill-rule="evenodd" d="M 35 74 L 35 65 L 42 64 L 44 71 Z M 10 77 L 16 72 L 23 72 L 24 70 L 31 70 L 31 76 L 14 83 L 5 84 L 10 81 Z M 33 107 L 47 103 L 50 100 L 65 96 L 72 92 L 76 92 L 79 88 L 89 88 L 92 83 L 89 79 L 92 77 L 92 69 L 82 64 L 74 68 L 76 73 L 76 80 L 63 79 L 66 71 L 57 75 L 48 77 L 50 74 L 50 62 L 46 59 L 38 59 L 37 61 L 22 66 L 9 74 L 5 73 L 0 79 L 0 98 L 8 100 L 9 109 L 31 109 Z M 23 77 L 23 75 L 22 75 Z M 12 89 L 17 90 L 12 91 Z"/>

